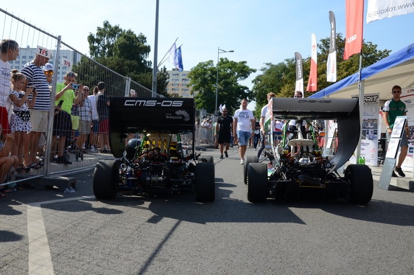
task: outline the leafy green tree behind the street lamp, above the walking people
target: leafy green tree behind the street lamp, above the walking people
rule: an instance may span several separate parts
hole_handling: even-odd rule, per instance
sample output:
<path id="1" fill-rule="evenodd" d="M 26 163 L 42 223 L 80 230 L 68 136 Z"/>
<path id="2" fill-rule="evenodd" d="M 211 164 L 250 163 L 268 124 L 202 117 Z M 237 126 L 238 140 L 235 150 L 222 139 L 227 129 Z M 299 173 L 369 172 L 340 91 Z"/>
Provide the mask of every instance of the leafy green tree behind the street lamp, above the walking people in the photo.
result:
<path id="1" fill-rule="evenodd" d="M 218 72 L 218 105 L 225 104 L 230 113 L 239 109 L 243 98 L 253 99 L 253 93 L 248 87 L 238 84 L 251 73 L 256 72 L 247 66 L 246 61 L 235 62 L 227 58 L 220 58 Z M 217 67 L 213 60 L 200 62 L 191 68 L 189 73 L 192 87 L 191 94 L 194 96 L 197 109 L 206 109 L 209 113 L 214 113 L 216 106 L 216 81 Z"/>

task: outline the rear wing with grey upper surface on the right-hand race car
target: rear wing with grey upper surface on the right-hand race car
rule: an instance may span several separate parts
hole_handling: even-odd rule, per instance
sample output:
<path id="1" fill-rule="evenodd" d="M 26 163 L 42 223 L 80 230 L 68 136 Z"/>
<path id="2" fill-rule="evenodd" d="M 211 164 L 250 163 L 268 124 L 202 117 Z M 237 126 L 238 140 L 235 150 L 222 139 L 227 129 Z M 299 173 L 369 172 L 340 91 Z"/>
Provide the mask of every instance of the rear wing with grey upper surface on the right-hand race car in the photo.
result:
<path id="1" fill-rule="evenodd" d="M 344 165 L 355 151 L 361 136 L 360 111 L 357 98 L 280 98 L 269 100 L 266 121 L 278 119 L 336 120 L 338 150 L 331 160 L 336 170 Z"/>

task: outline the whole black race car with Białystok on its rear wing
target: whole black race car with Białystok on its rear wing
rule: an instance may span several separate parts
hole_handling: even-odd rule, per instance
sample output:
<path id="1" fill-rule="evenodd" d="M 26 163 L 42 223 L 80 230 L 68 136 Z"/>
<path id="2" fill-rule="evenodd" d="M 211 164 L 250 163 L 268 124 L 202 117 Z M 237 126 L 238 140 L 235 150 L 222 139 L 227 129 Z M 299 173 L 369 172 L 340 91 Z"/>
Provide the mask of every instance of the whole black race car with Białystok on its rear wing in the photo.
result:
<path id="1" fill-rule="evenodd" d="M 213 157 L 195 153 L 194 130 L 192 98 L 111 97 L 109 144 L 118 159 L 96 164 L 95 197 L 113 199 L 119 190 L 138 195 L 191 190 L 198 201 L 214 201 Z M 129 133 L 143 137 L 126 144 Z"/>

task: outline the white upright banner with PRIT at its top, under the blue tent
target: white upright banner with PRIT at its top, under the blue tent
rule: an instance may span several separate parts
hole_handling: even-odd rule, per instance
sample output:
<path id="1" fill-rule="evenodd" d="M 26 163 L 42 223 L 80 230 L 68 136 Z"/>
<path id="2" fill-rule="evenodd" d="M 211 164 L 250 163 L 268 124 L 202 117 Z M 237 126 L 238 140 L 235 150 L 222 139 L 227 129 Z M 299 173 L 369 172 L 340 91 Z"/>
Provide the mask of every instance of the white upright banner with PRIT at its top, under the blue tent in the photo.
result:
<path id="1" fill-rule="evenodd" d="M 378 166 L 378 140 L 381 137 L 378 121 L 379 110 L 380 94 L 365 94 L 362 107 L 361 157 L 365 158 L 365 164 L 369 166 Z M 355 154 L 351 160 L 357 163 Z"/>

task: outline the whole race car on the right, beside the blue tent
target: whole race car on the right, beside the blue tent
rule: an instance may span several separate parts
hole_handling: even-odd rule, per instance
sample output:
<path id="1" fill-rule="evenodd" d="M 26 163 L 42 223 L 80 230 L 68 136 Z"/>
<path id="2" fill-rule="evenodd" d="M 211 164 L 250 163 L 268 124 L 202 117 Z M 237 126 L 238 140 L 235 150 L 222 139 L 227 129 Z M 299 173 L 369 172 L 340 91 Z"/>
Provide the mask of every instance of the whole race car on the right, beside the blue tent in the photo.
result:
<path id="1" fill-rule="evenodd" d="M 292 133 L 287 127 L 283 128 L 279 145 L 274 142 L 272 130 L 276 119 L 295 120 L 296 125 Z M 307 138 L 303 121 L 312 119 L 337 121 L 338 149 L 332 158 L 322 156 L 313 135 Z M 244 159 L 244 183 L 250 202 L 309 194 L 326 199 L 343 197 L 358 204 L 371 200 L 373 179 L 367 165 L 348 165 L 344 176 L 337 172 L 359 142 L 358 99 L 272 98 L 268 103 L 265 129 L 268 162 L 260 163 L 257 156 Z M 313 133 L 312 128 L 309 131 Z M 289 134 L 295 138 L 289 139 Z"/>

